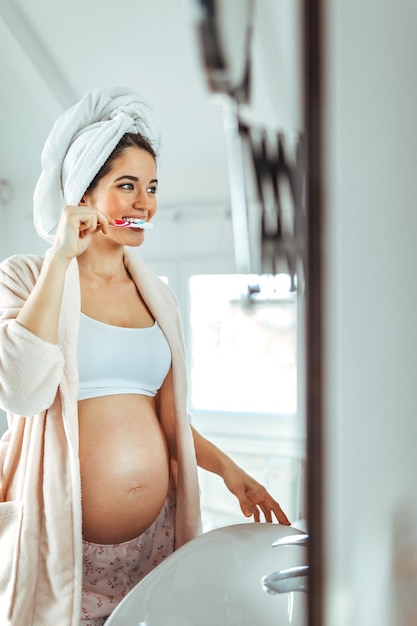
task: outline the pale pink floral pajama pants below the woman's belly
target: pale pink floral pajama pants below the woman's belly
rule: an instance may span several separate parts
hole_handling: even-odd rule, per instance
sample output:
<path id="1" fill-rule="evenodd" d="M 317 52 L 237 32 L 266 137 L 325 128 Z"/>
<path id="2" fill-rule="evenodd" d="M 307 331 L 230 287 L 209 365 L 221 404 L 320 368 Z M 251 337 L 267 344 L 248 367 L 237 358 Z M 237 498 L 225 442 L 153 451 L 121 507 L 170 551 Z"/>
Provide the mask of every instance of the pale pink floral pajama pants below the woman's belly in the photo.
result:
<path id="1" fill-rule="evenodd" d="M 174 498 L 168 494 L 156 520 L 135 539 L 115 545 L 83 541 L 80 626 L 102 626 L 125 595 L 173 552 Z"/>

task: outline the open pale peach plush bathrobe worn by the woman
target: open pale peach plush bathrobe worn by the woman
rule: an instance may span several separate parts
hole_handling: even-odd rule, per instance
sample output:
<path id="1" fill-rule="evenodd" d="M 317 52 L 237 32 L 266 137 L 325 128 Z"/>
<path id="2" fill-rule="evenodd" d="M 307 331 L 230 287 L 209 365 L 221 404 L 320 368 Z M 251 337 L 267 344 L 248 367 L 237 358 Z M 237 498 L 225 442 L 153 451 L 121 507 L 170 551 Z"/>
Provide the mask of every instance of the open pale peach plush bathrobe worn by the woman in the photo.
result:
<path id="1" fill-rule="evenodd" d="M 38 256 L 15 256 L 0 265 L 0 406 L 9 421 L 0 442 L 2 626 L 80 622 L 78 263 L 74 259 L 67 271 L 59 344 L 54 345 L 15 320 L 42 262 Z M 172 376 L 167 376 L 159 394 L 159 416 L 177 487 L 178 548 L 201 532 L 181 322 L 169 287 L 129 250 L 125 264 L 171 347 Z"/>

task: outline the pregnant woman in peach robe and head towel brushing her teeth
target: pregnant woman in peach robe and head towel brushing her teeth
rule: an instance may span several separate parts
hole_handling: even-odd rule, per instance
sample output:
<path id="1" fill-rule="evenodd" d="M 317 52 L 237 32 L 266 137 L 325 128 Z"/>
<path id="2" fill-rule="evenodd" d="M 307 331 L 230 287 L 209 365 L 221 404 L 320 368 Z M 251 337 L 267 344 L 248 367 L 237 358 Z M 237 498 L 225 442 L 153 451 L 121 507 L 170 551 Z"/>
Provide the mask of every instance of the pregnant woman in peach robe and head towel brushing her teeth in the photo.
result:
<path id="1" fill-rule="evenodd" d="M 156 212 L 157 131 L 126 89 L 55 123 L 35 190 L 45 257 L 0 266 L 0 621 L 102 625 L 200 532 L 197 464 L 243 513 L 288 520 L 198 434 L 170 288 L 131 248 Z"/>

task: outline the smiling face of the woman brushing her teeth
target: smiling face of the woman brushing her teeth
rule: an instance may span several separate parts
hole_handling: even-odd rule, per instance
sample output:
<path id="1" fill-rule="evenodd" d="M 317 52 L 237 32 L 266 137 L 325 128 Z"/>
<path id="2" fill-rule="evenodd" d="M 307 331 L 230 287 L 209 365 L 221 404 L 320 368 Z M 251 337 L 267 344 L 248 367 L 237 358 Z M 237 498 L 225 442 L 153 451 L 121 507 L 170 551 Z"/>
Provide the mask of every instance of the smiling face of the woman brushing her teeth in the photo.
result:
<path id="1" fill-rule="evenodd" d="M 126 148 L 97 187 L 83 197 L 83 204 L 94 206 L 108 217 L 126 217 L 150 221 L 156 213 L 155 159 L 141 148 Z M 127 245 L 139 245 L 144 231 L 134 228 L 111 228 L 110 236 Z M 128 238 L 128 241 L 126 241 Z"/>

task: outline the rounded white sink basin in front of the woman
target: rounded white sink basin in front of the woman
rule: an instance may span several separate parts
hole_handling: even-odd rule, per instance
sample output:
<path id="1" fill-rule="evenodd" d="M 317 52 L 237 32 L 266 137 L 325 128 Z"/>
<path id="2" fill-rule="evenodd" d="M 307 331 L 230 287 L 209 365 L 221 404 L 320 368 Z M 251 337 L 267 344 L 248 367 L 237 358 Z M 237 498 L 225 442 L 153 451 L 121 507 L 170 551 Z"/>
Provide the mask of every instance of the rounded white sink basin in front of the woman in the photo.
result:
<path id="1" fill-rule="evenodd" d="M 106 626 L 305 626 L 306 594 L 270 595 L 262 577 L 307 563 L 302 546 L 271 547 L 293 527 L 244 523 L 200 535 L 124 598 Z"/>

